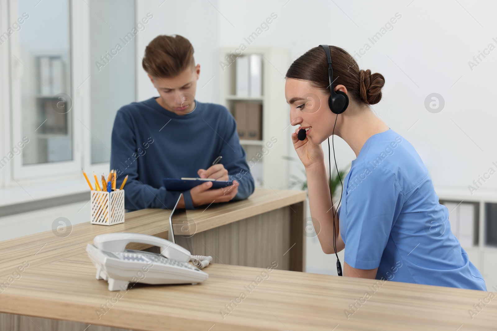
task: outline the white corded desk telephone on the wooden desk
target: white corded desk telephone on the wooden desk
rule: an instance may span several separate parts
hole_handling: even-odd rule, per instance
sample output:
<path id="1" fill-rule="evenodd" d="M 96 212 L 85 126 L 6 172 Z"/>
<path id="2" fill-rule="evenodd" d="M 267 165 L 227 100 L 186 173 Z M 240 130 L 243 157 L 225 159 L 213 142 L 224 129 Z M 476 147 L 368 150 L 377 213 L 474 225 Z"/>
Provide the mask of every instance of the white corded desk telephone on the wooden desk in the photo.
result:
<path id="1" fill-rule="evenodd" d="M 161 248 L 161 254 L 125 249 L 129 243 L 143 243 Z M 191 256 L 170 241 L 140 233 L 107 233 L 86 245 L 86 252 L 96 267 L 96 279 L 105 279 L 109 291 L 126 290 L 130 281 L 145 284 L 200 283 L 209 275 L 203 268 L 211 257 Z M 193 265 L 188 264 L 193 261 Z"/>

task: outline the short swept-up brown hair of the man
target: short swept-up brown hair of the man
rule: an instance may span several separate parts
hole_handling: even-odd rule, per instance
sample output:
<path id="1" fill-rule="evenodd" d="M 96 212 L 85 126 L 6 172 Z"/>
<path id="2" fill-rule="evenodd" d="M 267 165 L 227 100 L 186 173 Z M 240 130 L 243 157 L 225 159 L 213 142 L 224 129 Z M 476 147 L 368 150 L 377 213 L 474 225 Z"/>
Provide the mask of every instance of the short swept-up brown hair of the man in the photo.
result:
<path id="1" fill-rule="evenodd" d="M 157 36 L 145 48 L 142 66 L 151 76 L 174 77 L 195 66 L 193 46 L 179 35 Z"/>

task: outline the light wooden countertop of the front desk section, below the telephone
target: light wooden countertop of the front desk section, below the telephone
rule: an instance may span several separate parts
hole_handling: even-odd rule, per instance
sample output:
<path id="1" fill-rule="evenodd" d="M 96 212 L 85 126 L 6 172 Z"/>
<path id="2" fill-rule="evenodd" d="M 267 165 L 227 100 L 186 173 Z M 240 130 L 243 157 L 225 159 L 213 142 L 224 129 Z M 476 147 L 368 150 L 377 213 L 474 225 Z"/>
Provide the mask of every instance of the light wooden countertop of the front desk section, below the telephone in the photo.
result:
<path id="1" fill-rule="evenodd" d="M 335 330 L 455 331 L 461 325 L 459 330 L 495 330 L 494 302 L 473 320 L 468 315 L 488 295 L 483 291 L 387 281 L 373 292 L 373 280 L 278 267 L 265 273 L 264 268 L 213 264 L 204 270 L 209 279 L 199 285 L 136 284 L 126 292 L 109 292 L 105 281 L 94 278 L 95 268 L 82 253 L 27 268 L 0 295 L 0 311 L 154 331 L 213 326 L 211 330 L 330 331 L 337 325 Z M 371 297 L 357 305 L 366 291 Z M 235 305 L 232 300 L 241 292 L 246 297 Z M 121 297 L 112 303 L 117 293 Z M 344 311 L 354 304 L 356 312 L 347 319 Z"/>

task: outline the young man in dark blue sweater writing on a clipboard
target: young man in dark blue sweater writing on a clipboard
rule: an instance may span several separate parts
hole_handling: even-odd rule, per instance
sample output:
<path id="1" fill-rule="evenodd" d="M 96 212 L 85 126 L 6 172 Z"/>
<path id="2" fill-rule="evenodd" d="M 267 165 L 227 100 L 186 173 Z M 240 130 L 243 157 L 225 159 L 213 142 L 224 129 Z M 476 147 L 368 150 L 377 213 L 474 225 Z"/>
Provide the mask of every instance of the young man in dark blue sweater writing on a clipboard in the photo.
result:
<path id="1" fill-rule="evenodd" d="M 159 97 L 121 107 L 112 129 L 110 168 L 125 186 L 125 208 L 172 208 L 180 192 L 169 192 L 164 178 L 198 177 L 233 181 L 210 189 L 212 182 L 183 192 L 178 208 L 246 199 L 254 181 L 240 145 L 236 122 L 221 105 L 194 95 L 200 74 L 193 47 L 181 36 L 161 35 L 145 49 L 142 66 Z M 221 162 L 214 164 L 218 157 Z"/>

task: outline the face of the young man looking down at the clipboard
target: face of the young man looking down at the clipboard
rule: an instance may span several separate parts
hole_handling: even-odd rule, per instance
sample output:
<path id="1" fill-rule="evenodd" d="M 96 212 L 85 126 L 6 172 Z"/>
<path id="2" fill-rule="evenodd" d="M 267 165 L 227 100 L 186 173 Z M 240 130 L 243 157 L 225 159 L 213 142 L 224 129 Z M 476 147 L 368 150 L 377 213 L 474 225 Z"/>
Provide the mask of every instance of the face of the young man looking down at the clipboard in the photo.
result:
<path id="1" fill-rule="evenodd" d="M 195 91 L 200 74 L 200 65 L 188 67 L 175 77 L 155 77 L 150 80 L 159 92 L 157 102 L 166 110 L 185 115 L 195 109 Z"/>

